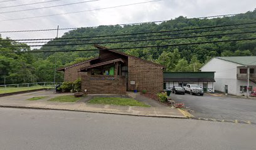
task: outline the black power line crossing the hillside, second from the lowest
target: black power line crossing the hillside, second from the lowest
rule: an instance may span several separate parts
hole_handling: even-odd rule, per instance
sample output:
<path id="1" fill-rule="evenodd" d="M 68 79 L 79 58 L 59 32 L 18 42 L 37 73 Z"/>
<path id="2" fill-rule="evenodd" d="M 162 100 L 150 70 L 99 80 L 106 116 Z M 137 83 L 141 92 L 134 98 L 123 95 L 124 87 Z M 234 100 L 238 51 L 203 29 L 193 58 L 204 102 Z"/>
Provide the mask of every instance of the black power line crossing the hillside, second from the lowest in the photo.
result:
<path id="1" fill-rule="evenodd" d="M 37 46 L 73 46 L 73 45 L 90 45 L 90 44 L 112 44 L 112 43 L 122 43 L 122 42 L 143 42 L 143 41 L 159 41 L 159 40 L 169 40 L 169 39 L 188 39 L 195 37 L 208 37 L 208 36 L 225 36 L 225 35 L 235 35 L 235 34 L 248 34 L 254 33 L 256 31 L 250 32 L 233 32 L 233 33 L 225 33 L 225 34 L 210 34 L 210 35 L 201 35 L 201 36 L 184 36 L 184 37 L 171 37 L 171 38 L 161 38 L 161 39 L 137 39 L 130 41 L 113 41 L 113 42 L 87 42 L 87 43 L 72 43 L 72 44 L 45 44 L 45 45 L 29 45 L 30 47 Z M 23 47 L 23 46 L 0 46 L 0 47 Z"/>

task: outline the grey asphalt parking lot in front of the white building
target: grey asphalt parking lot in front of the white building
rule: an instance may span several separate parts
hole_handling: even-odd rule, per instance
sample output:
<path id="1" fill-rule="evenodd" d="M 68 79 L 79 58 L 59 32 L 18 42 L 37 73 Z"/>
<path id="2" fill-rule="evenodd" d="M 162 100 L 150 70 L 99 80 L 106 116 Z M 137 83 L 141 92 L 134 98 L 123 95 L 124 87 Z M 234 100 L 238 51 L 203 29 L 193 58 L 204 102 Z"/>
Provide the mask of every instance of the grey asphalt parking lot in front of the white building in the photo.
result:
<path id="1" fill-rule="evenodd" d="M 253 121 L 256 123 L 256 101 L 253 99 L 230 98 L 225 96 L 175 95 L 176 103 L 184 103 L 198 118 L 230 119 Z"/>

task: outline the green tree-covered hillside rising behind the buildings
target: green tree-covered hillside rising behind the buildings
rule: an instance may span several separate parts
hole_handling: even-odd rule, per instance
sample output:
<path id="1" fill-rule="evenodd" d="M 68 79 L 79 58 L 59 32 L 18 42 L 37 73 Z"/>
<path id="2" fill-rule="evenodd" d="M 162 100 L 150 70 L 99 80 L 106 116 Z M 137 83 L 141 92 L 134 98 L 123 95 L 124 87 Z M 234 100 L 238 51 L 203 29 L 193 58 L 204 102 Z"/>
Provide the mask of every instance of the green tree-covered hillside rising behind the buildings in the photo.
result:
<path id="1" fill-rule="evenodd" d="M 245 14 L 238 14 L 232 17 L 218 17 L 213 19 L 187 19 L 186 17 L 178 17 L 171 21 L 162 22 L 161 24 L 144 23 L 125 26 L 99 26 L 85 27 L 66 32 L 59 39 L 54 39 L 41 49 L 33 51 L 55 51 L 55 50 L 79 50 L 79 49 L 95 49 L 93 44 L 84 43 L 100 43 L 105 47 L 137 47 L 137 46 L 163 46 L 168 44 L 184 44 L 191 42 L 220 41 L 230 39 L 245 39 L 256 37 L 255 32 L 247 34 L 227 34 L 230 32 L 250 32 L 256 31 L 256 24 L 243 26 L 227 26 L 212 29 L 197 29 L 191 31 L 173 31 L 154 34 L 139 34 L 131 36 L 111 36 L 111 37 L 95 37 L 105 35 L 118 34 L 135 34 L 138 32 L 155 32 L 166 30 L 180 30 L 205 26 L 222 26 L 227 24 L 242 24 L 246 22 L 256 22 L 256 9 Z M 234 29 L 238 28 L 238 29 Z M 215 30 L 215 31 L 213 31 Z M 203 32 L 202 32 L 203 31 Z M 206 32 L 209 31 L 209 32 Z M 155 35 L 161 36 L 155 36 Z M 163 35 L 165 34 L 165 35 Z M 168 35 L 166 35 L 168 34 Z M 177 38 L 186 36 L 203 36 L 209 34 L 225 34 L 219 36 L 205 36 L 194 38 Z M 83 39 L 63 39 L 72 37 L 88 37 Z M 94 37 L 94 38 L 92 38 Z M 125 38 L 123 38 L 125 37 Z M 128 38 L 132 37 L 132 38 Z M 110 39 L 114 38 L 114 39 Z M 173 38 L 173 39 L 164 39 Z M 174 39 L 176 38 L 176 39 Z M 97 39 L 97 40 L 95 40 Z M 164 39 L 137 42 L 116 42 L 116 41 L 136 41 L 144 39 Z M 80 40 L 80 41 L 79 41 Z M 61 41 L 61 42 L 60 42 Z M 0 44 L 4 45 L 3 39 Z M 8 44 L 16 44 L 10 42 Z M 47 46 L 54 44 L 73 44 L 69 46 Z M 1 51 L 21 51 L 21 48 L 3 48 Z M 28 51 L 30 51 L 28 47 Z M 166 47 L 148 47 L 140 49 L 119 50 L 127 54 L 137 56 L 142 59 L 154 61 L 167 67 L 167 71 L 198 71 L 200 66 L 215 56 L 250 56 L 256 55 L 256 40 L 252 41 L 233 41 L 218 42 L 206 44 L 193 44 L 183 46 L 166 46 Z M 97 56 L 98 51 L 81 51 L 81 52 L 65 52 L 56 53 L 57 68 L 68 64 L 77 63 L 86 59 Z M 16 65 L 15 63 L 18 63 Z M 3 84 L 3 78 L 7 83 L 24 83 L 33 81 L 53 81 L 55 55 L 54 53 L 36 53 L 36 54 L 0 54 L 0 84 Z M 22 72 L 22 73 L 21 73 Z M 27 76 L 28 78 L 23 78 Z M 63 75 L 58 73 L 58 81 L 63 79 Z"/>

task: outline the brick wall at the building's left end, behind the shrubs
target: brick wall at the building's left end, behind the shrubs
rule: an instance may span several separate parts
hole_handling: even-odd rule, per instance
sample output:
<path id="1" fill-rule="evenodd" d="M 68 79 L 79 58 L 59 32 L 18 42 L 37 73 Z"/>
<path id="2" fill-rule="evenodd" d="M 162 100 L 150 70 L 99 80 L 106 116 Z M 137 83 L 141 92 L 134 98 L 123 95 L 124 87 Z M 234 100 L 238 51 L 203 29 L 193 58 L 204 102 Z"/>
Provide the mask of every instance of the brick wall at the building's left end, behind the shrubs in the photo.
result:
<path id="1" fill-rule="evenodd" d="M 80 64 L 80 65 L 77 65 L 77 66 L 73 66 L 72 68 L 65 69 L 64 81 L 73 82 L 76 79 L 78 79 L 79 77 L 85 76 L 87 73 L 82 73 L 82 72 L 79 73 L 78 71 L 80 71 L 80 68 L 84 68 L 86 66 L 90 66 L 90 62 Z"/>

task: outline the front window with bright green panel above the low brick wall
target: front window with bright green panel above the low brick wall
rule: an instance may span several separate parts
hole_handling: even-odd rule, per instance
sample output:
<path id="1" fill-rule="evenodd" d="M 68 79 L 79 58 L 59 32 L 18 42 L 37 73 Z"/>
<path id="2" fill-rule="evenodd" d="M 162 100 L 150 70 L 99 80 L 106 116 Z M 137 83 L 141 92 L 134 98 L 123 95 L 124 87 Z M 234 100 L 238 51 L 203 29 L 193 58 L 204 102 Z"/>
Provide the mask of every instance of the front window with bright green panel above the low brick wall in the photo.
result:
<path id="1" fill-rule="evenodd" d="M 92 75 L 94 76 L 101 76 L 101 75 L 105 75 L 105 76 L 114 76 L 114 65 L 107 65 L 107 66 L 100 66 L 97 68 L 92 68 Z"/>

